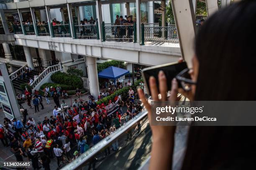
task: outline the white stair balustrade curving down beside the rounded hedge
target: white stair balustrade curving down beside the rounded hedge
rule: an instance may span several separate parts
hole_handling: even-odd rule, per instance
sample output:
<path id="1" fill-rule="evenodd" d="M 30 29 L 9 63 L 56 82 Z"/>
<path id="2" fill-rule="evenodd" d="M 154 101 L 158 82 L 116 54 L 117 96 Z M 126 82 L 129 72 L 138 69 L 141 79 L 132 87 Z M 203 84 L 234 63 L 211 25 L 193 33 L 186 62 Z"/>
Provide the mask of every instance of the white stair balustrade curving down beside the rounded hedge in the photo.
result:
<path id="1" fill-rule="evenodd" d="M 30 86 L 33 88 L 36 87 L 36 85 L 38 85 L 38 83 L 44 79 L 44 77 L 46 77 L 47 75 L 49 75 L 51 72 L 56 72 L 56 71 L 61 71 L 61 63 L 59 62 L 59 64 L 56 65 L 51 65 L 49 67 L 47 67 L 46 69 L 44 69 L 43 72 L 41 72 L 41 74 L 38 75 L 38 77 L 36 77 L 36 79 L 30 84 Z"/>

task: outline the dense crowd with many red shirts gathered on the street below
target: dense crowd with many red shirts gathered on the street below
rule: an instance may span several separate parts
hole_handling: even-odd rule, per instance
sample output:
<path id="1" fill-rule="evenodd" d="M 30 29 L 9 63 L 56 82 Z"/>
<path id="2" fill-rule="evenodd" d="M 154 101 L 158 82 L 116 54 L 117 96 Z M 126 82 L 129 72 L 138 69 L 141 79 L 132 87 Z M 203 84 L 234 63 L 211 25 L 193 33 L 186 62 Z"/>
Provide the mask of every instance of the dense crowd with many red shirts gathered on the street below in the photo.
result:
<path id="1" fill-rule="evenodd" d="M 79 93 L 79 89 L 77 92 Z M 133 95 L 134 91 L 131 89 L 129 93 Z M 54 95 L 57 93 L 54 92 Z M 22 100 L 22 96 L 19 94 L 17 97 Z M 41 102 L 41 95 L 37 91 L 34 92 L 33 104 L 36 110 Z M 50 118 L 44 117 L 42 122 L 36 122 L 31 116 L 28 117 L 28 121 L 26 118 L 24 121 L 15 118 L 9 120 L 5 117 L 4 125 L 0 125 L 0 139 L 3 145 L 10 146 L 17 161 L 23 161 L 24 157 L 28 158 L 32 161 L 34 169 L 40 169 L 39 160 L 44 169 L 49 170 L 51 158 L 56 157 L 60 168 L 61 165 L 76 159 L 92 145 L 115 132 L 122 124 L 131 120 L 142 110 L 140 102 L 134 103 L 134 97 L 129 101 L 115 97 L 115 101 L 110 100 L 109 104 L 114 104 L 114 102 L 116 102 L 118 110 L 108 112 L 105 104 L 97 105 L 92 96 L 85 102 L 74 100 L 72 106 L 68 106 L 65 100 L 62 100 L 61 105 L 54 106 Z M 127 111 L 123 110 L 125 105 Z M 43 109 L 43 105 L 41 106 Z M 21 111 L 24 112 L 23 109 Z M 140 129 L 138 123 L 136 130 L 139 132 Z M 131 132 L 127 133 L 126 140 L 131 140 Z M 71 148 L 75 148 L 74 153 L 73 151 L 71 153 Z M 116 140 L 112 145 L 112 150 L 117 151 L 118 149 Z M 109 155 L 110 148 L 107 148 L 104 153 Z M 95 166 L 95 162 L 92 163 L 92 166 Z"/>

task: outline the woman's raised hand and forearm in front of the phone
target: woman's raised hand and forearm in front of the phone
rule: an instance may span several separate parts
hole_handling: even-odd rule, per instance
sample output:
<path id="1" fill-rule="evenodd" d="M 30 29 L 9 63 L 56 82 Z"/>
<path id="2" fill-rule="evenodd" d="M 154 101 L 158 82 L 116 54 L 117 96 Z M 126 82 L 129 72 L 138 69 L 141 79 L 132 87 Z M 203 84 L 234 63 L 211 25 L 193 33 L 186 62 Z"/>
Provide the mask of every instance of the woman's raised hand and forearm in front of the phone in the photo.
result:
<path id="1" fill-rule="evenodd" d="M 149 87 L 151 95 L 154 101 L 159 101 L 159 93 L 161 94 L 161 101 L 167 100 L 167 80 L 163 71 L 158 74 L 159 91 L 156 86 L 156 79 L 154 77 L 149 78 Z M 172 90 L 170 93 L 169 101 L 177 100 L 178 82 L 176 79 L 172 80 Z M 138 95 L 148 110 L 148 119 L 151 123 L 151 106 L 148 104 L 144 93 L 141 89 L 138 89 Z M 172 169 L 172 152 L 174 146 L 174 132 L 175 126 L 152 126 L 152 150 L 149 169 L 150 170 L 169 170 Z"/>

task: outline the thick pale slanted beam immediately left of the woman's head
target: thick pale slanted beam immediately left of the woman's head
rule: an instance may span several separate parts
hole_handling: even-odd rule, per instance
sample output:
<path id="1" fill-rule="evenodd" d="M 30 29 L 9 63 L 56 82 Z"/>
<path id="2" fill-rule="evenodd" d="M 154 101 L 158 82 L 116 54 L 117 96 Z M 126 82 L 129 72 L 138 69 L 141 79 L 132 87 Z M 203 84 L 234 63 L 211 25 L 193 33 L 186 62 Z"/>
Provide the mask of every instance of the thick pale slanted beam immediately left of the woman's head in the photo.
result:
<path id="1" fill-rule="evenodd" d="M 192 67 L 195 39 L 195 13 L 192 0 L 172 0 L 172 10 L 177 27 L 182 58 Z"/>

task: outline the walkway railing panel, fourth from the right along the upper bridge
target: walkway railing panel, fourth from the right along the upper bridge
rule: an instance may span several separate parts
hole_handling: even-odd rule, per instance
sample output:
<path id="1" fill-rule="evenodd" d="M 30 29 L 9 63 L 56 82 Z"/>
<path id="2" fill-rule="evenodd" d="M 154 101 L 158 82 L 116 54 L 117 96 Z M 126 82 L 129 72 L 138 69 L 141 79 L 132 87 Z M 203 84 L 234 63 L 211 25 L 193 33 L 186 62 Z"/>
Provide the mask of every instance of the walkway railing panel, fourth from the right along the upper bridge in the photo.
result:
<path id="1" fill-rule="evenodd" d="M 53 37 L 71 37 L 69 24 L 52 25 Z"/>

